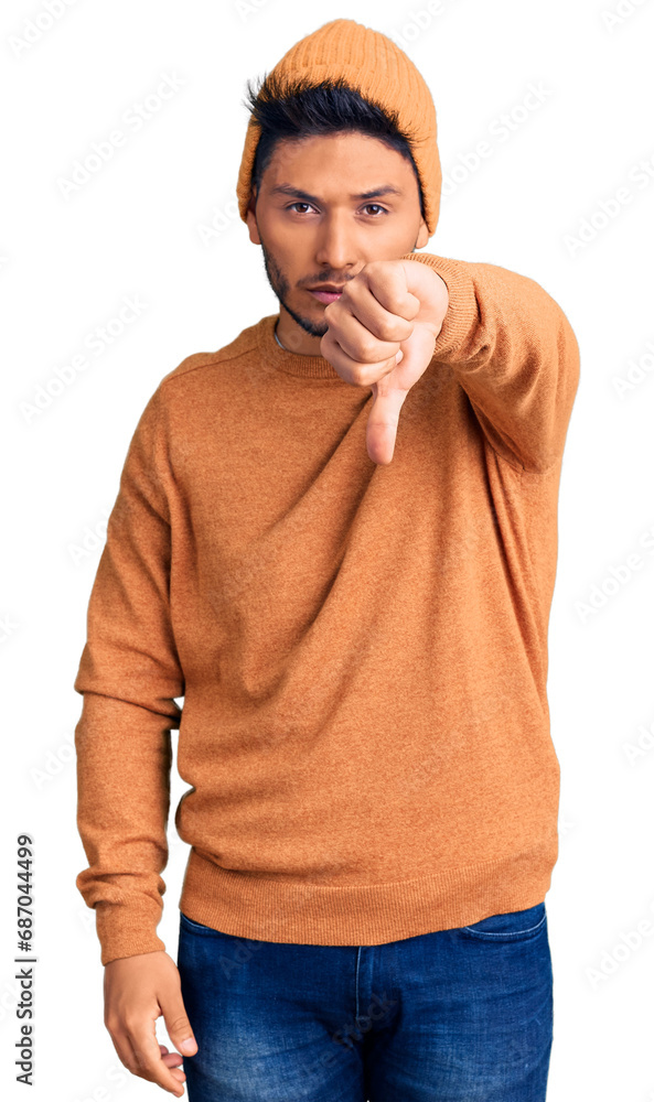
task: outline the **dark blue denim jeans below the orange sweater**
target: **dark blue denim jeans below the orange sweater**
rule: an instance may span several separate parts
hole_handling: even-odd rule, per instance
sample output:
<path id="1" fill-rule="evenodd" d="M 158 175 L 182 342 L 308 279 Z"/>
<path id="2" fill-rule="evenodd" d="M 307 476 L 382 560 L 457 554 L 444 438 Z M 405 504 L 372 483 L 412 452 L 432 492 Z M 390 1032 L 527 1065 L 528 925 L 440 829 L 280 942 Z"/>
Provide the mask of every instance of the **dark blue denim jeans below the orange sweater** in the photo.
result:
<path id="1" fill-rule="evenodd" d="M 545 903 L 383 946 L 251 941 L 180 916 L 189 1102 L 544 1102 Z"/>

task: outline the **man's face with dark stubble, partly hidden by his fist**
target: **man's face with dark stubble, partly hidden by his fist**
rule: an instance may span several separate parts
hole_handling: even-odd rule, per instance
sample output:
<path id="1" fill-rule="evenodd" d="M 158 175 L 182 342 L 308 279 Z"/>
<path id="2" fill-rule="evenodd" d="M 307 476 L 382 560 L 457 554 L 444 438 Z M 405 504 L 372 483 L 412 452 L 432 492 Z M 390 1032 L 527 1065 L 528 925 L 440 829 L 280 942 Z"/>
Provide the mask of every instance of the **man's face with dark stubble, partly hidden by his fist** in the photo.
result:
<path id="1" fill-rule="evenodd" d="M 397 260 L 429 240 L 412 166 L 361 133 L 278 142 L 247 225 L 280 302 L 280 339 L 314 355 L 333 295 L 310 289 L 342 287 L 371 260 Z"/>

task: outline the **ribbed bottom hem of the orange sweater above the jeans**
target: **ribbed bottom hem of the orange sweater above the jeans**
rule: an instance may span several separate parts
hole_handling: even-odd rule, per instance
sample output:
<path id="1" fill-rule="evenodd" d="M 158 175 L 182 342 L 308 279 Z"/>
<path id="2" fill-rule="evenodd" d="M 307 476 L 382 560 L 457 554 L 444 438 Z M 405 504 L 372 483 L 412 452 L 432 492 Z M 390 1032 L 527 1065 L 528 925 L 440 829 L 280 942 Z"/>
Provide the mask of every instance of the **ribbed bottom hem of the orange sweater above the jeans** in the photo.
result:
<path id="1" fill-rule="evenodd" d="M 378 946 L 535 907 L 556 856 L 555 840 L 411 879 L 334 886 L 235 872 L 192 849 L 179 907 L 195 922 L 257 941 Z"/>

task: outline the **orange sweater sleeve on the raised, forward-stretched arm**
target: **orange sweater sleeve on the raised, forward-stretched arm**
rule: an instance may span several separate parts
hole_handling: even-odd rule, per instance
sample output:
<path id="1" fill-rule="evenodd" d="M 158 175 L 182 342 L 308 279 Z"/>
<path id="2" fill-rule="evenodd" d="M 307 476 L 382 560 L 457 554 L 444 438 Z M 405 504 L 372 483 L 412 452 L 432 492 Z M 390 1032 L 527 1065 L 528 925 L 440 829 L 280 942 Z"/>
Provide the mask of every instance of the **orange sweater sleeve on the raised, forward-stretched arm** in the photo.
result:
<path id="1" fill-rule="evenodd" d="M 452 368 L 493 450 L 545 472 L 562 456 L 579 382 L 579 346 L 535 280 L 489 263 L 407 253 L 432 267 L 450 302 L 433 359 Z"/>

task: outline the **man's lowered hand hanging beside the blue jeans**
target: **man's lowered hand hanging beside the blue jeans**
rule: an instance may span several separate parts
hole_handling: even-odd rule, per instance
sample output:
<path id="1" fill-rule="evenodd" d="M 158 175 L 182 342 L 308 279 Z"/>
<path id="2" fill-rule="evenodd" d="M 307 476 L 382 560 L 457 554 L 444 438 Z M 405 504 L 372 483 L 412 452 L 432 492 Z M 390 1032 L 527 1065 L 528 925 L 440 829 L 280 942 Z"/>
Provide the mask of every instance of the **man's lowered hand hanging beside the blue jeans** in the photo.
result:
<path id="1" fill-rule="evenodd" d="M 162 1014 L 173 1045 L 194 1056 L 197 1044 L 182 1002 L 180 973 L 168 953 L 139 953 L 105 964 L 105 1025 L 121 1063 L 182 1098 L 182 1057 L 157 1040 L 156 1023 Z M 189 1048 L 183 1045 L 187 1038 Z"/>

